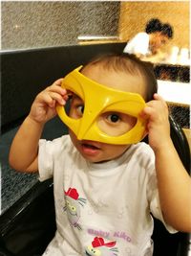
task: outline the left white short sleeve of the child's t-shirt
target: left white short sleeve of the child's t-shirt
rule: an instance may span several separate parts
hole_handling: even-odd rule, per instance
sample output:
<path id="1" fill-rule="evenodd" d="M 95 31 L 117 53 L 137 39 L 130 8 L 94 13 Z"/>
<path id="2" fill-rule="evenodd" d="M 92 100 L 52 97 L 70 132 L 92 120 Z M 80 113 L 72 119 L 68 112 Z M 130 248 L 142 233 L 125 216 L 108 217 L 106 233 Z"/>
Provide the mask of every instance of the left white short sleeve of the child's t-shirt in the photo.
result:
<path id="1" fill-rule="evenodd" d="M 53 177 L 53 142 L 41 139 L 38 151 L 39 180 Z"/>

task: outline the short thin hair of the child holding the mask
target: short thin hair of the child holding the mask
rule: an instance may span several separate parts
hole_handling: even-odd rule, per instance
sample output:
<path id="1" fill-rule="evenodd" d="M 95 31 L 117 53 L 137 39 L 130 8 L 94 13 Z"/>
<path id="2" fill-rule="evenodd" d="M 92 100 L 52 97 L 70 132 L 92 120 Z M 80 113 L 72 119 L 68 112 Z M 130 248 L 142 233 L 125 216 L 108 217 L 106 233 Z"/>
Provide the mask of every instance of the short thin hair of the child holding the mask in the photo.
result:
<path id="1" fill-rule="evenodd" d="M 97 56 L 84 65 L 86 67 L 101 64 L 105 70 L 113 70 L 115 72 L 124 72 L 133 76 L 140 76 L 147 86 L 145 101 L 149 102 L 153 99 L 153 95 L 157 93 L 158 83 L 153 71 L 153 65 L 149 62 L 141 61 L 134 55 L 129 54 L 105 54 Z"/>

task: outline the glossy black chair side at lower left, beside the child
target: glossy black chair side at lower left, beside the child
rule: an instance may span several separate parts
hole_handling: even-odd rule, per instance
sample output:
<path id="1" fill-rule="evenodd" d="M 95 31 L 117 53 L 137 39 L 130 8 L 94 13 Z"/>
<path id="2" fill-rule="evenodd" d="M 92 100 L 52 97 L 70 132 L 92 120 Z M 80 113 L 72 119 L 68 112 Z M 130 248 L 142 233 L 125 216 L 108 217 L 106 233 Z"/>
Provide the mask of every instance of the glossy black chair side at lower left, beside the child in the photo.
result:
<path id="1" fill-rule="evenodd" d="M 37 182 L 0 216 L 0 255 L 41 255 L 55 229 L 53 181 Z"/>

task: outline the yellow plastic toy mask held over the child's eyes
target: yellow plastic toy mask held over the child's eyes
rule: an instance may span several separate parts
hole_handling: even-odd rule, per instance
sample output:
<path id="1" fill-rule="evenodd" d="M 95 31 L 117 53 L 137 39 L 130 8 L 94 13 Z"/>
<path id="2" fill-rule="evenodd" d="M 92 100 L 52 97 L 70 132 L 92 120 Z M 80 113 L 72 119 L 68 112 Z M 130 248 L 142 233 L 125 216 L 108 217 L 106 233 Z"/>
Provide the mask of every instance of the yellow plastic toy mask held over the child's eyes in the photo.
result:
<path id="1" fill-rule="evenodd" d="M 143 138 L 145 121 L 138 114 L 145 107 L 145 102 L 137 93 L 119 91 L 99 84 L 74 69 L 62 81 L 62 87 L 77 95 L 84 103 L 82 117 L 71 118 L 65 107 L 56 105 L 56 111 L 63 123 L 73 130 L 78 140 L 92 140 L 107 144 L 133 144 Z M 100 115 L 113 112 L 123 113 L 137 118 L 136 125 L 127 132 L 112 136 L 102 131 L 97 125 Z"/>

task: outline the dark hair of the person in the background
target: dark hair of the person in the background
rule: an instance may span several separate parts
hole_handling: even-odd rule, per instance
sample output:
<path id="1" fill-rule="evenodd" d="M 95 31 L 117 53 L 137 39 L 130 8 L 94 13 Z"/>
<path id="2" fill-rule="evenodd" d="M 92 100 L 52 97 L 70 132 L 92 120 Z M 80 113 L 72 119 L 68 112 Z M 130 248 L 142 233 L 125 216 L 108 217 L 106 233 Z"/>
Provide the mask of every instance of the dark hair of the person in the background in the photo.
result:
<path id="1" fill-rule="evenodd" d="M 146 24 L 145 32 L 147 34 L 161 32 L 162 35 L 166 35 L 168 38 L 173 37 L 173 28 L 168 23 L 162 23 L 159 18 L 152 18 Z"/>

